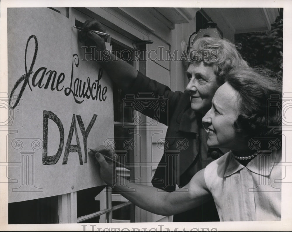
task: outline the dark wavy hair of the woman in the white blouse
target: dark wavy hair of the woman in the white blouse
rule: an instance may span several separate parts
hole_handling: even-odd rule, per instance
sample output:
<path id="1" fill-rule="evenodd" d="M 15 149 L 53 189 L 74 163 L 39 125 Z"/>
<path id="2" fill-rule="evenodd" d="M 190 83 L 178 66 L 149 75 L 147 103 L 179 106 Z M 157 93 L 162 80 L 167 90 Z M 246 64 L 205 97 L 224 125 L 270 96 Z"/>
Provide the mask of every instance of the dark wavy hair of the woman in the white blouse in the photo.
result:
<path id="1" fill-rule="evenodd" d="M 239 93 L 240 115 L 234 127 L 246 139 L 279 137 L 274 130 L 280 130 L 282 125 L 282 83 L 271 74 L 266 69 L 237 67 L 225 77 L 225 81 Z M 269 107 L 271 99 L 279 99 L 277 107 Z"/>

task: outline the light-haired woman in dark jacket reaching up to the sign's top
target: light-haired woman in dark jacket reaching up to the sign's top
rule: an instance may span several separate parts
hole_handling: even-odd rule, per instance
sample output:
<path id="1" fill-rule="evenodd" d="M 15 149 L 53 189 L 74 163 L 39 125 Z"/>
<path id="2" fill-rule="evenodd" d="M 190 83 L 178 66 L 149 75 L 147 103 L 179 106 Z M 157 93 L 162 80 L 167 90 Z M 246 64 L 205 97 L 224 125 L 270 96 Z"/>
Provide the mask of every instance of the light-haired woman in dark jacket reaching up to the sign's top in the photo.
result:
<path id="1" fill-rule="evenodd" d="M 83 27 L 104 30 L 96 20 L 86 21 Z M 85 40 L 86 45 L 97 46 L 98 49 L 105 51 L 105 42 L 97 34 L 86 33 L 84 30 L 79 33 L 79 38 L 81 41 Z M 136 99 L 139 92 L 148 92 L 156 99 L 163 96 L 162 100 L 168 104 L 169 111 L 162 113 L 160 110 L 158 120 L 168 126 L 165 144 L 169 146 L 164 149 L 152 179 L 154 187 L 165 191 L 175 191 L 176 184 L 183 187 L 190 182 L 195 173 L 222 155 L 214 151 L 215 149 L 208 149 L 206 132 L 201 123 L 202 116 L 211 108 L 214 93 L 224 83 L 225 74 L 233 67 L 248 67 L 234 44 L 224 39 L 212 37 L 197 39 L 192 45 L 190 55 L 192 62 L 187 69 L 189 83 L 184 92 L 171 91 L 168 86 L 148 78 L 130 64 L 116 59 L 114 54 L 109 55 L 110 59 L 100 62 L 109 77 L 126 94 L 135 95 Z M 162 100 L 160 98 L 159 102 Z M 141 113 L 150 118 L 154 117 L 153 110 L 149 107 L 138 107 L 136 110 L 142 110 Z M 171 151 L 177 150 L 176 144 L 181 139 L 186 140 L 188 146 L 180 150 L 177 161 L 176 154 Z M 216 214 L 215 204 L 206 202 L 203 206 L 174 215 L 173 221 L 219 220 Z"/>

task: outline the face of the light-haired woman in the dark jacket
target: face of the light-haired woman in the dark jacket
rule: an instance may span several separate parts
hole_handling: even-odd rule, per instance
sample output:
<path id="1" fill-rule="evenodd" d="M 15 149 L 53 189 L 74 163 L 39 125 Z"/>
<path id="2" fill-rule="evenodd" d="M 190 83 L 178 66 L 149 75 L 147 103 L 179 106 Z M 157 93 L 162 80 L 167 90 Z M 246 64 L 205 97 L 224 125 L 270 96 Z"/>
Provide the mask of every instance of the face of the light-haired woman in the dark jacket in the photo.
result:
<path id="1" fill-rule="evenodd" d="M 191 108 L 204 115 L 212 105 L 212 98 L 219 88 L 213 66 L 204 62 L 191 63 L 187 69 L 189 83 L 186 90 L 190 93 Z"/>

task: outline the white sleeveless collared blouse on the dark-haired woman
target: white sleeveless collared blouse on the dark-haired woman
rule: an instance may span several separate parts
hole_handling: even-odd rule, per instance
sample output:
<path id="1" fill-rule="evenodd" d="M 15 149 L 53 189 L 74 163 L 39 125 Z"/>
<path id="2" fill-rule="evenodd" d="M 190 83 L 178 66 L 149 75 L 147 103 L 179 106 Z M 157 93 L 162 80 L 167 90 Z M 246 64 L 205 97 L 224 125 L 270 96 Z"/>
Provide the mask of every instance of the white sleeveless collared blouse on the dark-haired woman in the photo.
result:
<path id="1" fill-rule="evenodd" d="M 259 154 L 244 167 L 227 152 L 205 168 L 220 221 L 281 220 L 281 156 Z"/>

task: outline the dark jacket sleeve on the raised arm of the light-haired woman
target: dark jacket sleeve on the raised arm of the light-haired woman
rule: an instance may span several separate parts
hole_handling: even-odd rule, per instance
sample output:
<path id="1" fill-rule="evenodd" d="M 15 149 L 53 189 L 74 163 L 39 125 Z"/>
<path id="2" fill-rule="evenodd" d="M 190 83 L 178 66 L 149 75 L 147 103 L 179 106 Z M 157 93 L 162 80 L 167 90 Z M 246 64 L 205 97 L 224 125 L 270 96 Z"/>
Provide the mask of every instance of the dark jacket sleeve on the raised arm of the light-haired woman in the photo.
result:
<path id="1" fill-rule="evenodd" d="M 126 101 L 133 100 L 133 108 L 168 126 L 182 92 L 171 91 L 166 85 L 138 72 L 131 88 L 126 91 Z"/>

